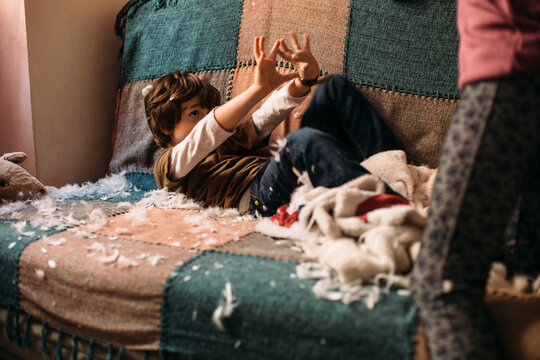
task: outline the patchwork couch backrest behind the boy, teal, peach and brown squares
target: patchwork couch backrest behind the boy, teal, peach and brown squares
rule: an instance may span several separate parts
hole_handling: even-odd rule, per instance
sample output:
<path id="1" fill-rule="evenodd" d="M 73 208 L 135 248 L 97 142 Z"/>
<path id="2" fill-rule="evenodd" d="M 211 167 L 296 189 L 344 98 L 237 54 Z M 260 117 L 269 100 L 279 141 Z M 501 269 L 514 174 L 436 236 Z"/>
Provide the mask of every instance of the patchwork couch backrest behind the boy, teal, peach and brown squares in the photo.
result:
<path id="1" fill-rule="evenodd" d="M 151 171 L 161 152 L 144 115 L 149 82 L 187 70 L 229 100 L 253 79 L 253 37 L 272 44 L 289 30 L 310 34 L 322 72 L 358 86 L 410 161 L 436 166 L 459 98 L 455 7 L 455 0 L 132 0 L 116 23 L 122 74 L 110 171 Z M 298 128 L 308 101 L 274 137 Z"/>

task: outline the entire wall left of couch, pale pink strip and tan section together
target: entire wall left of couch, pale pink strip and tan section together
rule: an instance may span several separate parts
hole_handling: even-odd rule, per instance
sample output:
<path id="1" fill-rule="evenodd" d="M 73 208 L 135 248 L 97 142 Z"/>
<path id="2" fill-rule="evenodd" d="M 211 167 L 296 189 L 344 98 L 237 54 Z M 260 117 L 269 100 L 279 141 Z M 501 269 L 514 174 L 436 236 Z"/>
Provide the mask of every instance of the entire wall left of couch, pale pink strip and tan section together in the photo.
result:
<path id="1" fill-rule="evenodd" d="M 26 152 L 45 185 L 106 175 L 126 1 L 0 0 L 0 155 Z"/>

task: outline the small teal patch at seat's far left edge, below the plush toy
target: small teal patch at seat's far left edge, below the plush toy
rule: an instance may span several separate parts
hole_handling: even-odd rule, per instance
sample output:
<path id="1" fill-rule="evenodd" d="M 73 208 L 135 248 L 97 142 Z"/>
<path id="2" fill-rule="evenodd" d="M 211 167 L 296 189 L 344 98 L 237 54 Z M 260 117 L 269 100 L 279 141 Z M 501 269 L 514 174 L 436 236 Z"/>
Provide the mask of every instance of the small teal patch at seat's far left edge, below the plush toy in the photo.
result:
<path id="1" fill-rule="evenodd" d="M 0 219 L 0 305 L 19 308 L 19 259 L 28 244 L 62 230 L 39 230 L 27 223 L 21 235 L 12 226 L 16 220 Z"/>

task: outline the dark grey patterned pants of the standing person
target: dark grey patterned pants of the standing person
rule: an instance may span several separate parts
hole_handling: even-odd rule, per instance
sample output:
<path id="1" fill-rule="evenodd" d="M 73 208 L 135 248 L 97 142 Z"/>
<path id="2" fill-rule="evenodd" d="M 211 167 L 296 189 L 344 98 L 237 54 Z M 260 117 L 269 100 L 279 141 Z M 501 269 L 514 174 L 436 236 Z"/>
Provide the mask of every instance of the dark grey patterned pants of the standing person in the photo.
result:
<path id="1" fill-rule="evenodd" d="M 539 155 L 540 76 L 465 88 L 412 275 L 433 359 L 503 356 L 485 285 L 495 260 L 540 273 Z"/>

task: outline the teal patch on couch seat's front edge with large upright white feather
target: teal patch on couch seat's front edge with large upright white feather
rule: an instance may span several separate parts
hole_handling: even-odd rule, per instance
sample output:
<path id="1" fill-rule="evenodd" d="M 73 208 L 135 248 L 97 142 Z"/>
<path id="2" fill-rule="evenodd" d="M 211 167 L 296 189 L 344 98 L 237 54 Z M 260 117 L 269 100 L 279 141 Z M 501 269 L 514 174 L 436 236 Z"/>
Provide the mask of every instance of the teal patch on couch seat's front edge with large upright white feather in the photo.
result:
<path id="1" fill-rule="evenodd" d="M 312 293 L 295 263 L 204 252 L 165 285 L 161 350 L 211 359 L 408 359 L 417 330 L 408 297 L 381 295 L 373 310 Z M 292 274 L 292 275 L 291 275 Z M 223 324 L 212 314 L 227 282 L 237 307 Z"/>

